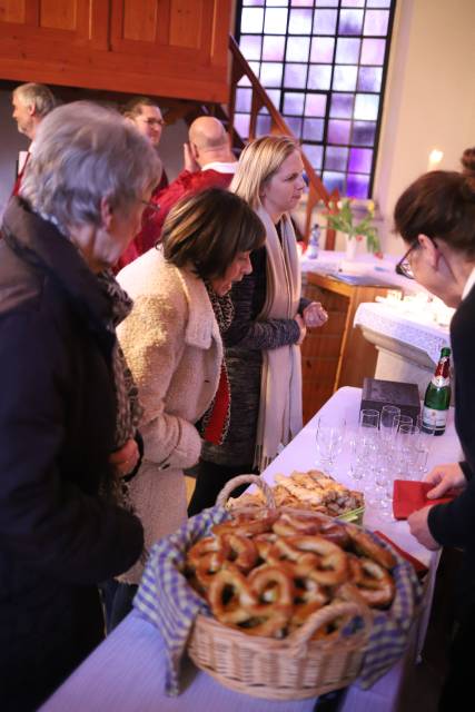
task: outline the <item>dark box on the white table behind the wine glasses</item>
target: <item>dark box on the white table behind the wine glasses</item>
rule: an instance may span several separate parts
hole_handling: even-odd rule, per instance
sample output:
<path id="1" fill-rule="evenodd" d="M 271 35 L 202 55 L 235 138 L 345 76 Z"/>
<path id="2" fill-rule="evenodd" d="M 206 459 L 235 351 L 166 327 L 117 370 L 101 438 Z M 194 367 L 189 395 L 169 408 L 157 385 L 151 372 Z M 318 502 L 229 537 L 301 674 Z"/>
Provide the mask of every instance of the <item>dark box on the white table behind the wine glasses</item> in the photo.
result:
<path id="1" fill-rule="evenodd" d="M 403 415 L 409 415 L 413 423 L 420 414 L 419 390 L 415 383 L 399 383 L 398 380 L 379 380 L 365 378 L 363 382 L 362 406 L 382 412 L 384 405 L 395 405 Z"/>

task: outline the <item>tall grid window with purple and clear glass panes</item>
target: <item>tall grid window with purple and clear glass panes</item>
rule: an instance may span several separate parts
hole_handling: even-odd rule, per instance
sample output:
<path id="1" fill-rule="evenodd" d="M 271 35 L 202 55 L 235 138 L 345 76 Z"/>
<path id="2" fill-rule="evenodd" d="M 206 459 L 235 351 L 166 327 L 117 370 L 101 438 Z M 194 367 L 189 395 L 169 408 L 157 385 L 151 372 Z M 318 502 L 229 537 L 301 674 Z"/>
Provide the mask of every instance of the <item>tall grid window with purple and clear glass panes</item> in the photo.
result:
<path id="1" fill-rule="evenodd" d="M 368 198 L 395 0 L 241 0 L 239 47 L 326 188 Z M 247 138 L 251 90 L 236 95 Z M 263 109 L 257 135 L 268 132 Z"/>

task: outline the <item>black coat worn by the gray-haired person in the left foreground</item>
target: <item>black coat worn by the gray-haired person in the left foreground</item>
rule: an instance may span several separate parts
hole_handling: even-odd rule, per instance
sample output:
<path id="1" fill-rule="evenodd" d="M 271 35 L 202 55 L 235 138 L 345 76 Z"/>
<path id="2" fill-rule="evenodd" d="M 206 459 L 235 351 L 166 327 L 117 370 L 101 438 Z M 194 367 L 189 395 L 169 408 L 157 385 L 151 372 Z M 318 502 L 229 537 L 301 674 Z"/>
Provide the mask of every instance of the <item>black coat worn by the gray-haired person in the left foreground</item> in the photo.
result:
<path id="1" fill-rule="evenodd" d="M 36 709 L 102 637 L 97 584 L 142 550 L 110 482 L 109 303 L 77 249 L 13 198 L 0 240 L 0 699 Z M 107 490 L 107 487 L 106 487 Z"/>

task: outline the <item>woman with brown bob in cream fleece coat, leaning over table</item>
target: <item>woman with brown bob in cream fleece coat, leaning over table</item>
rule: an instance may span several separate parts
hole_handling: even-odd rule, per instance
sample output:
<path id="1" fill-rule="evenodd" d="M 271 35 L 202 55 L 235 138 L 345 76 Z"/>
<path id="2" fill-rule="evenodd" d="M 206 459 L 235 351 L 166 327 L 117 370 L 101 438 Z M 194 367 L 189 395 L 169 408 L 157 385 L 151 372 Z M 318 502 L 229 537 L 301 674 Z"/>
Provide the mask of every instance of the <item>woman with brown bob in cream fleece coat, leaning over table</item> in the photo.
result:
<path id="1" fill-rule="evenodd" d="M 186 521 L 182 471 L 198 462 L 204 439 L 219 443 L 226 434 L 220 332 L 232 318 L 232 283 L 251 271 L 250 251 L 263 241 L 263 224 L 246 202 L 211 188 L 178 202 L 164 226 L 162 250 L 149 250 L 119 275 L 135 300 L 119 338 L 145 407 L 144 463 L 130 500 L 147 547 Z M 141 573 L 140 562 L 120 577 L 112 625 L 130 609 Z"/>

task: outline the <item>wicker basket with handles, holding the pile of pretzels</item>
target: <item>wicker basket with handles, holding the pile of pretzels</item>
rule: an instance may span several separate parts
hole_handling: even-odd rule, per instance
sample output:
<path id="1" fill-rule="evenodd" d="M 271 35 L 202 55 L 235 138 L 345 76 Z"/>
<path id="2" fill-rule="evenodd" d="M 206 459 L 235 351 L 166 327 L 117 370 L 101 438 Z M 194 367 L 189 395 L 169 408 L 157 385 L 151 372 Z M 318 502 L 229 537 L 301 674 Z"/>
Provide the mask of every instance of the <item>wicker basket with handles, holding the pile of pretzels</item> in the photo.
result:
<path id="1" fill-rule="evenodd" d="M 261 487 L 267 506 L 273 507 L 271 488 L 256 475 L 231 479 L 217 503 L 224 504 L 232 490 L 244 483 Z M 360 619 L 363 626 L 350 636 L 310 640 L 320 625 L 343 615 Z M 275 640 L 254 637 L 198 615 L 188 654 L 198 668 L 231 690 L 269 700 L 301 700 L 344 688 L 358 676 L 372 622 L 366 606 L 353 602 L 330 604 L 316 611 L 288 637 Z"/>

